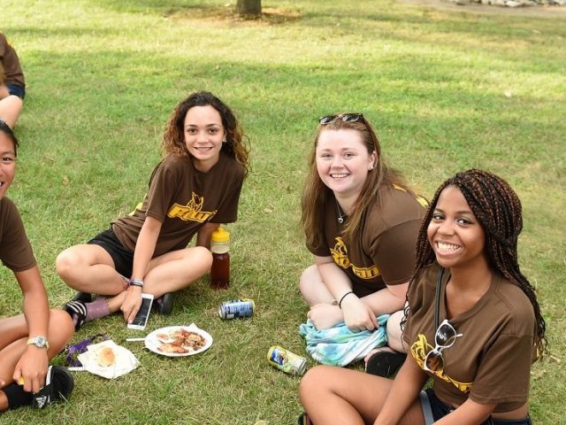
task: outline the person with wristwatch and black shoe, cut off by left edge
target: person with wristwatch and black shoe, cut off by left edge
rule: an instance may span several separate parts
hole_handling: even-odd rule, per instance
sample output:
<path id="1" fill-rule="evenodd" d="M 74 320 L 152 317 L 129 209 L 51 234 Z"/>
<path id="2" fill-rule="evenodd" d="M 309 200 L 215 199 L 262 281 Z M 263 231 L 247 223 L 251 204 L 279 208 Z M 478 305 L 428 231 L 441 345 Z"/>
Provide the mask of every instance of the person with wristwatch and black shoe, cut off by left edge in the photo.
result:
<path id="1" fill-rule="evenodd" d="M 73 376 L 65 367 L 49 366 L 73 337 L 73 321 L 63 311 L 50 310 L 18 208 L 6 197 L 17 150 L 16 136 L 0 120 L 0 259 L 24 296 L 23 314 L 0 319 L 0 412 L 47 406 L 73 390 Z"/>

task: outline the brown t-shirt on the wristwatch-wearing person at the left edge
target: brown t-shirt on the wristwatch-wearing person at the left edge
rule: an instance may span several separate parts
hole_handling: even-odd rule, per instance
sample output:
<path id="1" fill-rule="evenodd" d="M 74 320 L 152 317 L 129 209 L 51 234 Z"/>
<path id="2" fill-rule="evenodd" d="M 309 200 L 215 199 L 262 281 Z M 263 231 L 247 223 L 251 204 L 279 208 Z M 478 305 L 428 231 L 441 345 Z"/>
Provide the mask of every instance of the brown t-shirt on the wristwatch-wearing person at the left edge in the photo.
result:
<path id="1" fill-rule="evenodd" d="M 23 272 L 36 264 L 18 208 L 7 197 L 0 199 L 0 259 L 13 272 Z"/>

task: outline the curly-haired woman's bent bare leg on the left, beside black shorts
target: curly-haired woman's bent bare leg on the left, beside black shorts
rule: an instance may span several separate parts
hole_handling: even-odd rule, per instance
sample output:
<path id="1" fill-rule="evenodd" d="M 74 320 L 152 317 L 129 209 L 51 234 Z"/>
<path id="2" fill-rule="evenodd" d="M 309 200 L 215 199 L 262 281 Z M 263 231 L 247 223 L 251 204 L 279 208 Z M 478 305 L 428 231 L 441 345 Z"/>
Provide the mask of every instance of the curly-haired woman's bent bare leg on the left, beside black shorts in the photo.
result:
<path id="1" fill-rule="evenodd" d="M 75 245 L 57 256 L 57 274 L 73 290 L 99 295 L 118 295 L 124 279 L 114 268 L 108 251 L 94 244 Z"/>

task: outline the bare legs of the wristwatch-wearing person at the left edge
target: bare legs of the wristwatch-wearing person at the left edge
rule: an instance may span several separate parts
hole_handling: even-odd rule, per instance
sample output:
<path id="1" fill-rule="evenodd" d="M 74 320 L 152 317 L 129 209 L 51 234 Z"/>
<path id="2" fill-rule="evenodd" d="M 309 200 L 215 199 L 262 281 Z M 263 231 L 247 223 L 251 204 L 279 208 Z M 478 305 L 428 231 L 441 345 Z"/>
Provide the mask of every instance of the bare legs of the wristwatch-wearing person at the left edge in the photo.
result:
<path id="1" fill-rule="evenodd" d="M 50 327 L 47 339 L 50 348 L 47 355 L 53 359 L 73 337 L 74 326 L 69 315 L 61 310 L 50 310 Z M 0 388 L 13 383 L 12 375 L 16 364 L 27 349 L 26 318 L 23 314 L 0 321 Z M 4 396 L 4 392 L 0 392 Z M 0 397 L 2 398 L 2 397 Z M 0 401 L 0 410 L 2 403 Z"/>

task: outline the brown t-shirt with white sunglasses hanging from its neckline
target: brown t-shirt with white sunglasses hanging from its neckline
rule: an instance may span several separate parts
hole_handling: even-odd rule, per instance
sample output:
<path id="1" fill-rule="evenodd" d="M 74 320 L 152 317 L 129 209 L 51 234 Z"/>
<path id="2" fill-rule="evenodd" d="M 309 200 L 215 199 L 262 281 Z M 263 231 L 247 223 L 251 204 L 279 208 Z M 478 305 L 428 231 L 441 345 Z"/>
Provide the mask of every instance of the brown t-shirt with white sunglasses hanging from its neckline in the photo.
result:
<path id="1" fill-rule="evenodd" d="M 403 340 L 423 368 L 434 348 L 434 296 L 440 267 L 425 267 L 409 288 L 409 321 Z M 439 323 L 447 319 L 445 289 L 440 290 Z M 469 311 L 449 319 L 458 334 L 455 344 L 442 350 L 445 366 L 432 376 L 433 390 L 447 403 L 462 405 L 468 397 L 496 404 L 494 412 L 523 406 L 529 395 L 529 377 L 536 321 L 529 298 L 499 275 Z M 424 368 L 423 368 L 424 370 Z"/>

